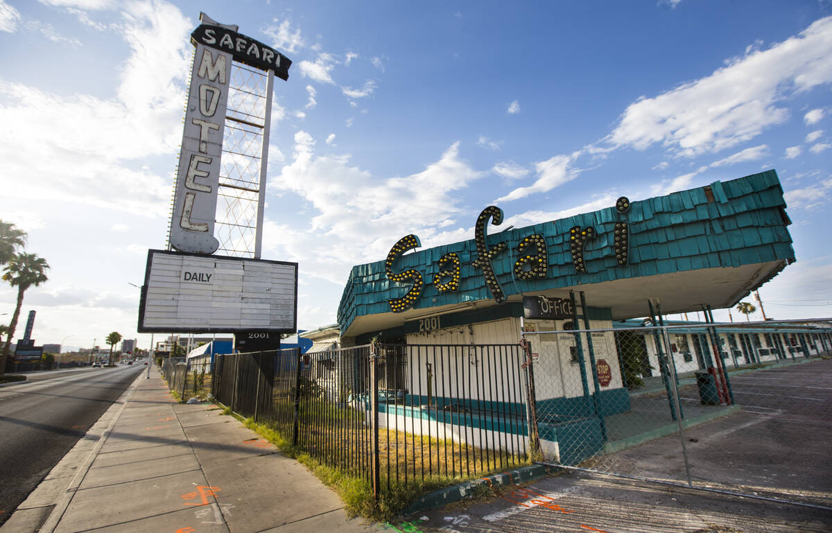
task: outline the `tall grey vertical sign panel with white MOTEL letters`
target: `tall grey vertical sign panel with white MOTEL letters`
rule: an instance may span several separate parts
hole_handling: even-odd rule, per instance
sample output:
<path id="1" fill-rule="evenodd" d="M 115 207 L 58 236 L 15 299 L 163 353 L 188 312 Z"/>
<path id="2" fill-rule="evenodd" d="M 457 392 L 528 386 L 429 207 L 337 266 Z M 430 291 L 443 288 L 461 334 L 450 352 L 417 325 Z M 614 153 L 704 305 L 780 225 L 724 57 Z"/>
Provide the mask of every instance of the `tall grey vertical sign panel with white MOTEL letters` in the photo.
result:
<path id="1" fill-rule="evenodd" d="M 181 252 L 212 254 L 231 54 L 196 42 L 185 131 L 176 175 L 171 245 Z"/>

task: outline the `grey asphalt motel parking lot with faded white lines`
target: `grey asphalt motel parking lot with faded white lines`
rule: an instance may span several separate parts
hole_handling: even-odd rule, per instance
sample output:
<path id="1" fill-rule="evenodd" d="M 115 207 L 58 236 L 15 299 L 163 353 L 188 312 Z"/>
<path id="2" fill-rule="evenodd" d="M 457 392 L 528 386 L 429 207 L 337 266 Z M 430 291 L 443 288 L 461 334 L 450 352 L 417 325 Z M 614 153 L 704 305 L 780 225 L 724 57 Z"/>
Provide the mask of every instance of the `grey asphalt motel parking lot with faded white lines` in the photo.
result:
<path id="1" fill-rule="evenodd" d="M 414 516 L 411 531 L 832 531 L 832 360 L 740 373 L 731 382 L 740 411 L 684 434 L 693 485 L 722 492 L 563 472 Z M 678 433 L 608 460 L 629 476 L 686 479 Z"/>

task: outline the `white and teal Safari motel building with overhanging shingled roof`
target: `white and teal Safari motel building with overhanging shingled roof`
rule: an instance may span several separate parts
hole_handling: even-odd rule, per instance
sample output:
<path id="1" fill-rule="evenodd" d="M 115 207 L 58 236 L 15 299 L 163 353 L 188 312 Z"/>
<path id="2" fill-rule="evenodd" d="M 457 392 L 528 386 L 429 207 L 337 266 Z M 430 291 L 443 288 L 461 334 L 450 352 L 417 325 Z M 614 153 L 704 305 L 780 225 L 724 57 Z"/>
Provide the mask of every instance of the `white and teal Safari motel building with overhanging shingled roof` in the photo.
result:
<path id="1" fill-rule="evenodd" d="M 310 353 L 374 342 L 409 348 L 387 351 L 380 392 L 396 398 L 381 409 L 394 413 L 395 423 L 408 431 L 415 427 L 408 417 L 428 417 L 521 435 L 527 435 L 527 407 L 519 407 L 525 388 L 514 396 L 498 391 L 478 397 L 476 387 L 463 387 L 458 378 L 454 385 L 453 375 L 477 364 L 463 363 L 461 348 L 517 347 L 526 338 L 542 446 L 577 463 L 604 446 L 604 417 L 631 409 L 629 374 L 622 372 L 623 348 L 614 330 L 650 325 L 638 317 L 657 321 L 671 313 L 730 308 L 745 299 L 795 261 L 785 207 L 775 170 L 646 200 L 621 198 L 603 210 L 524 228 L 502 230 L 503 211 L 490 206 L 479 215 L 472 239 L 422 249 L 418 235 L 411 234 L 394 244 L 387 258 L 354 266 L 338 324 L 305 336 L 316 341 Z M 717 341 L 706 324 L 688 325 L 669 330 L 678 374 L 715 363 Z M 581 329 L 599 331 L 580 337 L 563 333 Z M 832 347 L 829 329 L 793 329 L 719 333 L 721 363 L 731 368 L 809 357 Z M 643 343 L 640 378 L 661 375 L 667 382 L 658 338 L 637 338 Z M 328 348 L 319 348 L 322 343 Z M 395 353 L 416 358 L 416 347 L 445 347 L 451 355 L 441 365 L 404 361 L 400 355 L 391 362 Z M 500 367 L 498 358 L 487 376 L 492 382 L 508 381 L 525 368 L 517 361 Z M 333 368 L 331 362 L 327 368 Z M 503 412 L 523 419 L 520 427 L 505 429 L 503 422 L 484 420 L 486 415 L 453 412 L 455 405 L 477 402 L 508 406 Z M 426 403 L 438 404 L 435 414 L 425 415 Z M 456 418 L 448 422 L 449 416 Z M 470 422 L 460 422 L 463 418 Z M 465 432 L 456 433 L 454 438 L 465 439 Z M 583 448 L 565 442 L 578 438 L 596 444 L 579 452 Z"/>

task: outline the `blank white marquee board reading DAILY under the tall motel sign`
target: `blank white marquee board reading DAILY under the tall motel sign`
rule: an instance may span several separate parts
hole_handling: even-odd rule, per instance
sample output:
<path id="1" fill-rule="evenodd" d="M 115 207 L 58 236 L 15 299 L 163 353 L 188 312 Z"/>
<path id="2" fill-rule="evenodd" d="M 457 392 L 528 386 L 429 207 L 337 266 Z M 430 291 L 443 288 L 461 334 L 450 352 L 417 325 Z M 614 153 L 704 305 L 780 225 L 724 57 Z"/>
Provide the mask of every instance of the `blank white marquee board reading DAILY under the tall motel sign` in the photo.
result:
<path id="1" fill-rule="evenodd" d="M 151 249 L 139 333 L 294 333 L 298 264 Z"/>

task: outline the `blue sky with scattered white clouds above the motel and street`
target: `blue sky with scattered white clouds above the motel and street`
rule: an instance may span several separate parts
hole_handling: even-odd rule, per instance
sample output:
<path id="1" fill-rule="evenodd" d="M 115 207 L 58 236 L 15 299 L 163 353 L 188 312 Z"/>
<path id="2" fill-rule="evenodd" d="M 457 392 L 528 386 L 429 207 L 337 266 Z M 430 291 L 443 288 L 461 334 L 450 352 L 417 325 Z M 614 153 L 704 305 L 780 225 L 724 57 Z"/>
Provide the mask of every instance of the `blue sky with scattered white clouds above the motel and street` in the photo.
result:
<path id="1" fill-rule="evenodd" d="M 51 266 L 16 338 L 35 309 L 38 344 L 150 346 L 136 286 L 166 247 L 201 11 L 293 61 L 262 259 L 299 264 L 301 329 L 335 322 L 354 264 L 471 239 L 488 205 L 522 227 L 768 169 L 797 262 L 765 314 L 832 316 L 830 0 L 0 0 L 0 220 Z M 0 320 L 15 298 L 0 284 Z"/>

